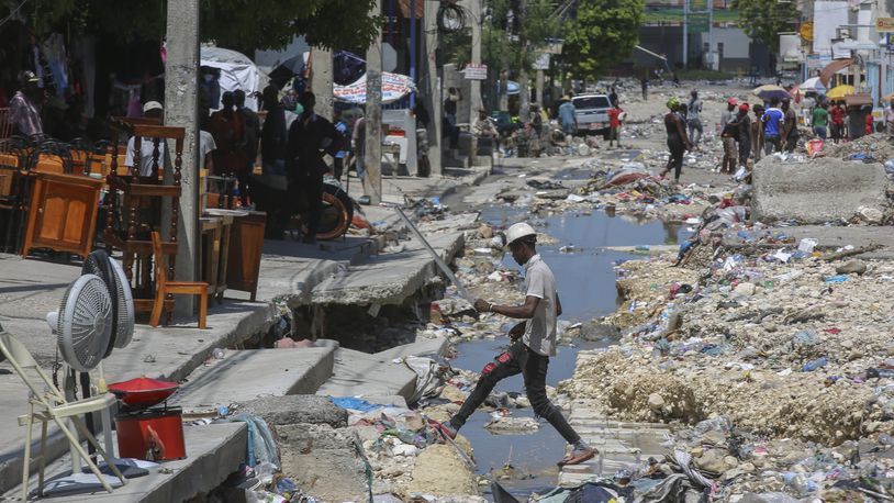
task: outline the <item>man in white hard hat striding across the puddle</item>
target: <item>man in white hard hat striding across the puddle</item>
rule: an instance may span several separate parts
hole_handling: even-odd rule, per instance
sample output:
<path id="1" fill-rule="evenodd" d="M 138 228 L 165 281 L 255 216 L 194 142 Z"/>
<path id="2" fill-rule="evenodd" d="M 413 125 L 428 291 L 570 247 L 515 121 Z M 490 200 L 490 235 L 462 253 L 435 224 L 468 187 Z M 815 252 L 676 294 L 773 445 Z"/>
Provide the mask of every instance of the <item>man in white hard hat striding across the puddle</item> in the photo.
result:
<path id="1" fill-rule="evenodd" d="M 506 353 L 498 356 L 495 362 L 488 364 L 474 390 L 447 423 L 436 426 L 440 433 L 455 438 L 457 431 L 469 416 L 484 402 L 493 387 L 510 376 L 522 375 L 534 412 L 547 420 L 572 446 L 559 466 L 577 465 L 596 455 L 596 449 L 584 443 L 574 432 L 561 411 L 550 403 L 546 394 L 546 372 L 549 357 L 556 355 L 556 318 L 562 313 L 562 304 L 556 292 L 556 278 L 549 266 L 535 249 L 537 233 L 526 223 L 517 223 L 506 231 L 506 241 L 512 258 L 525 267 L 525 303 L 522 305 L 495 305 L 479 299 L 474 309 L 479 312 L 498 313 L 504 316 L 525 320 L 510 331 L 512 345 Z"/>

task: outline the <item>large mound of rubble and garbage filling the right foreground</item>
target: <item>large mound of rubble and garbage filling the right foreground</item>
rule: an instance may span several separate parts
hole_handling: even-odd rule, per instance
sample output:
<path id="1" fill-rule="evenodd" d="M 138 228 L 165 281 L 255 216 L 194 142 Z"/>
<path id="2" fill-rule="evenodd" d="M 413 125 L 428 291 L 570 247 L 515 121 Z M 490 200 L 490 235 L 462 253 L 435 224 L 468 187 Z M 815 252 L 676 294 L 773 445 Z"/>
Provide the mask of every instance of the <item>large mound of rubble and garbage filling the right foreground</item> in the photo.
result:
<path id="1" fill-rule="evenodd" d="M 712 496 L 894 496 L 894 262 L 748 222 L 748 188 L 679 254 L 618 266 L 619 344 L 559 385 L 625 421 L 663 422 Z M 645 470 L 642 467 L 636 467 Z"/>

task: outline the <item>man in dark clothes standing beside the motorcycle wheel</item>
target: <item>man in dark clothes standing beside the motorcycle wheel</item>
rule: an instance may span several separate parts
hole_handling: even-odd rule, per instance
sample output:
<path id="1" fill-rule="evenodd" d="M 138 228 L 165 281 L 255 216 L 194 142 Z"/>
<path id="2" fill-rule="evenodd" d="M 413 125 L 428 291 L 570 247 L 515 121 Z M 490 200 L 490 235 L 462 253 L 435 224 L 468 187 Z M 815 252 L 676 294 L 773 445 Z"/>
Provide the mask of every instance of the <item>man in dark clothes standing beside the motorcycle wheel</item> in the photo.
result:
<path id="1" fill-rule="evenodd" d="M 289 128 L 288 193 L 293 205 L 303 195 L 308 209 L 303 242 L 314 244 L 323 213 L 323 175 L 328 170 L 323 155 L 335 156 L 342 135 L 332 122 L 314 113 L 316 97 L 313 92 L 304 91 L 300 103 L 303 112 Z"/>

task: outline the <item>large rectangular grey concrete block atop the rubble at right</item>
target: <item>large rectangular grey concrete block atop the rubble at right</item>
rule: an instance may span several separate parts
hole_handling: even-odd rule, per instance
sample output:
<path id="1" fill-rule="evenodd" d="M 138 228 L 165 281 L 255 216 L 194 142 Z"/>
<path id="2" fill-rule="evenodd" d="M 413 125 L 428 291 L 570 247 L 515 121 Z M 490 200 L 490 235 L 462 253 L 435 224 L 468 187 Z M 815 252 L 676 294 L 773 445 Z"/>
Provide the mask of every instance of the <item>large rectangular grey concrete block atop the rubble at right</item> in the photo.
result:
<path id="1" fill-rule="evenodd" d="M 887 179 L 881 164 L 835 158 L 782 163 L 766 157 L 752 176 L 752 219 L 824 223 L 852 217 L 860 206 L 884 211 Z"/>

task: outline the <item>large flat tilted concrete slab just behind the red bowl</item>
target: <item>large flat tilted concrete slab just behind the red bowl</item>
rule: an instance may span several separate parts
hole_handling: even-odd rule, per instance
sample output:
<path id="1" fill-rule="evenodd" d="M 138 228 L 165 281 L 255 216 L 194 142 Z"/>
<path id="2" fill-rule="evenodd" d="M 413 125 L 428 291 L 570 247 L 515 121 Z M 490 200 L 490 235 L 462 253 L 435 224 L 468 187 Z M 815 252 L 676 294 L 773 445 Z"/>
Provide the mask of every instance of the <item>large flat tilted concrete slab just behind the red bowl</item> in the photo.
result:
<path id="1" fill-rule="evenodd" d="M 332 347 L 227 351 L 190 375 L 175 395 L 177 405 L 197 410 L 247 402 L 262 395 L 314 393 L 329 378 Z"/>

